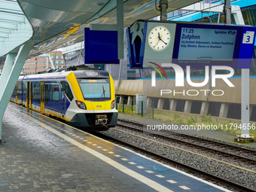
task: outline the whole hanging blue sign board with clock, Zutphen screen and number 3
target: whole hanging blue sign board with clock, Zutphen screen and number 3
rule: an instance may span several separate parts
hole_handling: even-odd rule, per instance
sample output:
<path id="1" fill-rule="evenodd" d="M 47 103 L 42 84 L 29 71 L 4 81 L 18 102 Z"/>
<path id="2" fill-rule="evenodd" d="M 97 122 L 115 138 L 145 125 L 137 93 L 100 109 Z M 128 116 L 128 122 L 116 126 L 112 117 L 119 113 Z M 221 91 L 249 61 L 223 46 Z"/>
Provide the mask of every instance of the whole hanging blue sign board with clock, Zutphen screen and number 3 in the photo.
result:
<path id="1" fill-rule="evenodd" d="M 148 62 L 154 62 L 175 63 L 181 67 L 249 69 L 256 27 L 144 21 L 142 35 L 138 38 L 136 34 L 133 26 L 127 30 L 130 68 L 147 67 Z M 130 41 L 132 38 L 138 41 Z"/>

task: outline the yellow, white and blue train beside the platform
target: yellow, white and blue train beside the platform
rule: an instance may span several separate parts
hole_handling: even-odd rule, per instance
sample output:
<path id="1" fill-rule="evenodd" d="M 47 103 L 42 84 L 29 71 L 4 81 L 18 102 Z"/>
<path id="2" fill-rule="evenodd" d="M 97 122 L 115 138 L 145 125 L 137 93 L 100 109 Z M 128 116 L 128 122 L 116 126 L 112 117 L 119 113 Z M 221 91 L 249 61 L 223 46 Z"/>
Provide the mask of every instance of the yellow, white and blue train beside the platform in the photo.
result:
<path id="1" fill-rule="evenodd" d="M 88 132 L 117 124 L 114 81 L 101 70 L 20 75 L 10 100 Z"/>

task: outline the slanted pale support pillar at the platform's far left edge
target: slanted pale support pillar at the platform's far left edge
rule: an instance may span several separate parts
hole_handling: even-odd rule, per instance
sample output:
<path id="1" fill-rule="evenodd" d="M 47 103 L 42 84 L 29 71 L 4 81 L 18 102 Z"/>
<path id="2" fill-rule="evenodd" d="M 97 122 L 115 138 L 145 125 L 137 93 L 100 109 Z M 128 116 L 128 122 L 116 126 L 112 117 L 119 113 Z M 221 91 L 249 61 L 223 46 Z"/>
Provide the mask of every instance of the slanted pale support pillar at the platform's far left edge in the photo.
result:
<path id="1" fill-rule="evenodd" d="M 14 54 L 9 53 L 3 70 L 3 76 L 0 79 L 0 142 L 2 142 L 2 120 L 5 114 L 5 109 L 7 108 L 8 102 L 11 98 L 11 93 L 14 91 L 14 87 L 20 76 L 20 72 L 23 69 L 26 58 L 29 55 L 29 51 L 33 47 L 33 42 L 28 41 L 20 46 L 19 53 L 14 61 Z M 14 61 L 14 65 L 12 66 Z"/>

